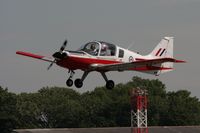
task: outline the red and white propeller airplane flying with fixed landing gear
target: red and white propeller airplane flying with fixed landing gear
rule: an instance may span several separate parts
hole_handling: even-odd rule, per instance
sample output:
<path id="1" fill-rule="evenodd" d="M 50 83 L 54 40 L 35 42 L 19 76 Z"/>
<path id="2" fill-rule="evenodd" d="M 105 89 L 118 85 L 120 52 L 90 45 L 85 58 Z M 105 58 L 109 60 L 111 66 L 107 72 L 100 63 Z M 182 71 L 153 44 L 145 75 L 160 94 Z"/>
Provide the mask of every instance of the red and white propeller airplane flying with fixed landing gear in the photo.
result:
<path id="1" fill-rule="evenodd" d="M 153 75 L 160 75 L 173 70 L 173 63 L 185 61 L 173 58 L 173 37 L 164 37 L 161 42 L 148 55 L 140 55 L 117 45 L 93 41 L 83 45 L 77 51 L 65 50 L 67 40 L 63 43 L 53 57 L 45 57 L 28 52 L 17 51 L 16 54 L 28 56 L 47 62 L 51 62 L 48 69 L 55 63 L 69 70 L 70 76 L 66 81 L 67 86 L 73 85 L 74 70 L 80 69 L 84 73 L 81 78 L 75 80 L 75 86 L 81 88 L 83 81 L 92 71 L 100 72 L 106 81 L 107 89 L 112 89 L 114 81 L 108 80 L 108 71 L 139 71 Z"/>

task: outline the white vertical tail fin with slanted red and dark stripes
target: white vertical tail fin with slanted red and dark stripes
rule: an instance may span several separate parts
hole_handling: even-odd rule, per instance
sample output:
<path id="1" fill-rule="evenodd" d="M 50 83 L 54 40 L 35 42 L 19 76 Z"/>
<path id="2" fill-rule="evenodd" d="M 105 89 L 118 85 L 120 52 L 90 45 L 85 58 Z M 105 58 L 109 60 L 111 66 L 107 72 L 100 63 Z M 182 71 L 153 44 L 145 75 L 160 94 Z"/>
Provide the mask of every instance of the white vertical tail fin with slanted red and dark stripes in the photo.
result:
<path id="1" fill-rule="evenodd" d="M 153 58 L 173 58 L 173 37 L 164 37 L 160 43 L 154 48 L 154 50 L 150 53 L 150 56 Z M 159 67 L 165 68 L 156 72 L 156 75 L 160 75 L 162 73 L 166 73 L 173 70 L 173 63 L 161 63 L 158 64 Z"/>

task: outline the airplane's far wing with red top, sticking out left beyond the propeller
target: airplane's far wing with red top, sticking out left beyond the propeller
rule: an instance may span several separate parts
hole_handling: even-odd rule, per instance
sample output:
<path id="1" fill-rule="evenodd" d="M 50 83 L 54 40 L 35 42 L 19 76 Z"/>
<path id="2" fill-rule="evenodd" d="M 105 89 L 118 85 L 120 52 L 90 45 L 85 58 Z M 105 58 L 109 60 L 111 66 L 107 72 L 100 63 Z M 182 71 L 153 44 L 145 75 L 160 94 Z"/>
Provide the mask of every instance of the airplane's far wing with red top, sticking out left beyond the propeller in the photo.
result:
<path id="1" fill-rule="evenodd" d="M 41 55 L 37 55 L 37 54 L 32 54 L 32 53 L 29 53 L 29 52 L 17 51 L 16 54 L 32 57 L 32 58 L 47 61 L 47 62 L 53 62 L 54 61 L 54 58 L 45 57 L 45 56 L 41 56 Z"/>

